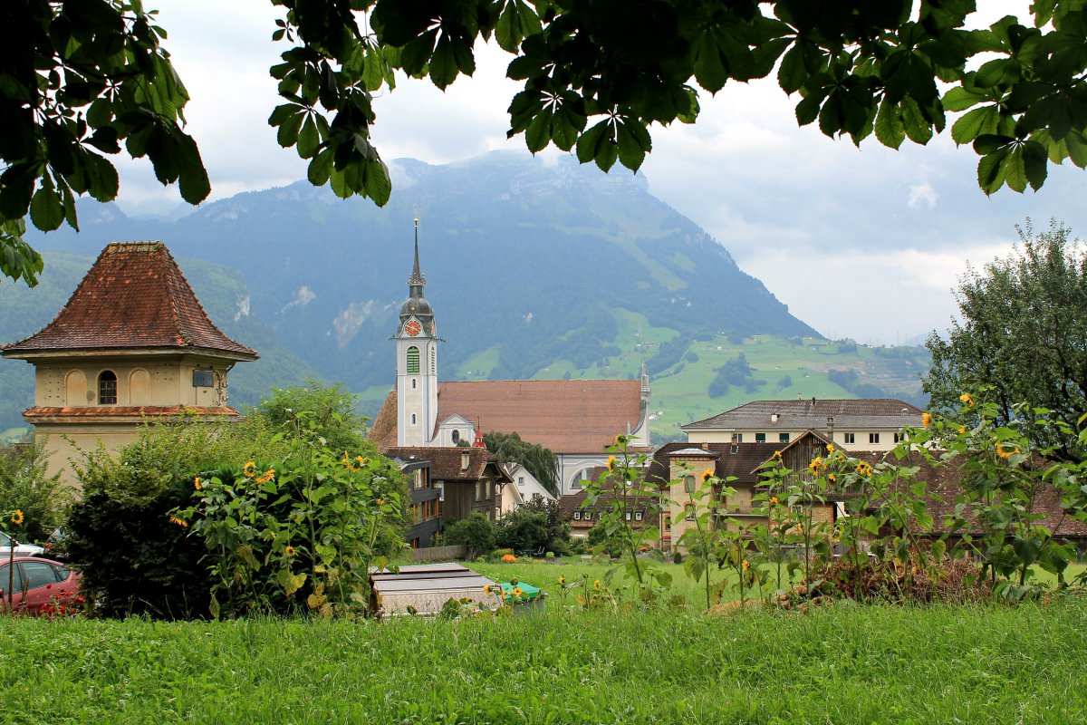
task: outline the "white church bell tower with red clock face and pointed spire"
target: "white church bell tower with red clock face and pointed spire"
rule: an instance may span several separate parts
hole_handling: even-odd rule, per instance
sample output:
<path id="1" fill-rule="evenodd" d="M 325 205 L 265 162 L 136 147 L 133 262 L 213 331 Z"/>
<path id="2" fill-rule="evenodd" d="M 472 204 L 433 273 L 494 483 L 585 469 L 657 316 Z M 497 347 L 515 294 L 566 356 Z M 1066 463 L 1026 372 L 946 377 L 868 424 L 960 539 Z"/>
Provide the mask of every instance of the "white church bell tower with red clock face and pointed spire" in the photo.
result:
<path id="1" fill-rule="evenodd" d="M 434 311 L 423 297 L 426 279 L 418 268 L 418 218 L 415 264 L 408 299 L 400 307 L 397 334 L 397 445 L 429 446 L 438 420 L 438 334 Z"/>

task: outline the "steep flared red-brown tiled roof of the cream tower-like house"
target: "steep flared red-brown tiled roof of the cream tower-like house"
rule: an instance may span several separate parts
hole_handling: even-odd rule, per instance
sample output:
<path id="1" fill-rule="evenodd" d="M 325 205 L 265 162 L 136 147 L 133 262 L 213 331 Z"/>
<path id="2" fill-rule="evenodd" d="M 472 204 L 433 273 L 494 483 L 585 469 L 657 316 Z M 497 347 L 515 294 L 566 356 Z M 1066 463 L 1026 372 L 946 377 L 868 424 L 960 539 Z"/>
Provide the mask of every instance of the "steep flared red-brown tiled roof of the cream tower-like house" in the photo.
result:
<path id="1" fill-rule="evenodd" d="M 2 351 L 18 358 L 148 348 L 258 358 L 215 327 L 161 241 L 107 246 L 57 317 Z"/>

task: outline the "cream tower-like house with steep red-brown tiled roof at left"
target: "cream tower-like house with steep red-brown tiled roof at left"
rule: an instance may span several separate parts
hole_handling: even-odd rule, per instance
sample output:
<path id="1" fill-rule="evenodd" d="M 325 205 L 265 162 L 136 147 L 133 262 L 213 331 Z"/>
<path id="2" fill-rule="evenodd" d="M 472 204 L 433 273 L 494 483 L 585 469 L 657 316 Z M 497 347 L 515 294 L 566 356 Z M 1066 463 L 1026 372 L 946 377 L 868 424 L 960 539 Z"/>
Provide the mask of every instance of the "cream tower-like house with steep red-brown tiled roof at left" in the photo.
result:
<path id="1" fill-rule="evenodd" d="M 161 241 L 109 245 L 57 317 L 0 354 L 35 366 L 23 417 L 67 484 L 77 449 L 115 451 L 145 421 L 237 417 L 227 375 L 258 358 L 211 322 Z"/>

